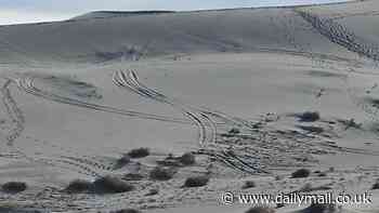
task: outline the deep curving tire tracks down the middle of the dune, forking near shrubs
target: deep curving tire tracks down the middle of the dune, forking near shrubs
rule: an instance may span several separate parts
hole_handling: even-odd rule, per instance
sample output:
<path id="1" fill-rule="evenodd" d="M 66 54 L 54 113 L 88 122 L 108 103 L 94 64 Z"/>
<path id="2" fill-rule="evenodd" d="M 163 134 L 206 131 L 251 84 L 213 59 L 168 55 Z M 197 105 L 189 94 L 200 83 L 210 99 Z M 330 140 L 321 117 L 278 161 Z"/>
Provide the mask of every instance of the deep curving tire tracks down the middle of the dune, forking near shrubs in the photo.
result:
<path id="1" fill-rule="evenodd" d="M 231 118 L 224 114 L 211 111 L 204 108 L 188 106 L 174 98 L 170 98 L 164 95 L 162 93 L 156 90 L 149 89 L 145 84 L 140 82 L 136 72 L 132 70 L 128 71 L 127 74 L 125 74 L 123 71 L 116 71 L 113 77 L 113 82 L 116 85 L 125 88 L 141 96 L 144 96 L 146 98 L 151 98 L 164 104 L 168 104 L 179 109 L 180 111 L 182 111 L 183 115 L 186 116 L 194 123 L 196 123 L 198 128 L 198 132 L 199 132 L 198 143 L 201 147 L 201 151 L 199 151 L 199 154 L 211 156 L 218 159 L 220 162 L 224 163 L 225 165 L 245 173 L 257 173 L 258 171 L 260 171 L 256 167 L 244 161 L 237 155 L 231 155 L 231 152 L 224 150 L 223 147 L 217 144 L 218 128 L 217 128 L 217 123 L 212 120 L 211 116 L 221 118 L 228 123 L 232 122 L 233 124 L 249 127 L 247 123 L 243 122 L 241 120 Z M 213 148 L 210 148 L 210 147 L 213 147 Z"/>

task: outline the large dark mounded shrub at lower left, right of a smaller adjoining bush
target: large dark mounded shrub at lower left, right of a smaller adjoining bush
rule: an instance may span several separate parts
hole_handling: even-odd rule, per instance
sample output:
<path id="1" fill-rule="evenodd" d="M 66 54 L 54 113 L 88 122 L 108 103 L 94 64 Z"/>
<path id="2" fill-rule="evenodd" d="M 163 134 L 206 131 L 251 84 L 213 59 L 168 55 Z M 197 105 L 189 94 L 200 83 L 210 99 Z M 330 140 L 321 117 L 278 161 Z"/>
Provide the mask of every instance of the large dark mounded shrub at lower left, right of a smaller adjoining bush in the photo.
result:
<path id="1" fill-rule="evenodd" d="M 119 194 L 133 189 L 133 186 L 114 176 L 100 177 L 93 182 L 93 191 L 97 194 Z"/>

